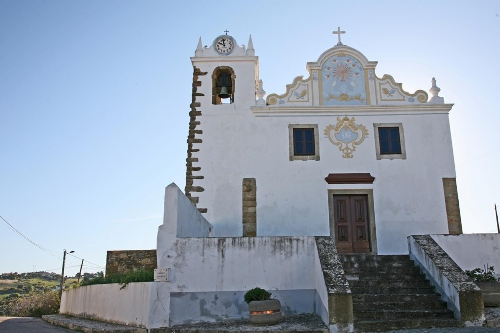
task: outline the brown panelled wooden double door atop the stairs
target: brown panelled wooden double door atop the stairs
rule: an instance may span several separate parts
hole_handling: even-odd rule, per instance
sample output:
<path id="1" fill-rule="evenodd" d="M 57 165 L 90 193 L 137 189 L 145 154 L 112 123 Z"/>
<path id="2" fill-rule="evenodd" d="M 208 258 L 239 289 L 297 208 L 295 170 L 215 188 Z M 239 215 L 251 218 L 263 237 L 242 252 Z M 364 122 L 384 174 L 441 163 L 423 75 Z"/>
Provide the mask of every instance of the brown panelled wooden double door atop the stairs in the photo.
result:
<path id="1" fill-rule="evenodd" d="M 370 252 L 368 200 L 365 195 L 334 195 L 335 245 L 338 253 Z"/>

